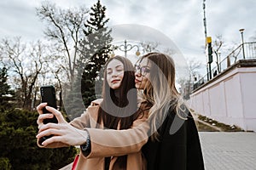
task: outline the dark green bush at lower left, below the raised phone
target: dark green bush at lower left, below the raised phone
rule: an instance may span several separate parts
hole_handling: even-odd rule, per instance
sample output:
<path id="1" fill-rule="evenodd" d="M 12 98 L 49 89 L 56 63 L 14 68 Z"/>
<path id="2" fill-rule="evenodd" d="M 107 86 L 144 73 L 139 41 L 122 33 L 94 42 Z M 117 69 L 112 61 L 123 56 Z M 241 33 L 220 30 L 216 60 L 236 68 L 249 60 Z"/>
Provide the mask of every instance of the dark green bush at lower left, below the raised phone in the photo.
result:
<path id="1" fill-rule="evenodd" d="M 0 169 L 59 169 L 73 161 L 75 147 L 42 149 L 37 145 L 38 113 L 0 112 Z"/>

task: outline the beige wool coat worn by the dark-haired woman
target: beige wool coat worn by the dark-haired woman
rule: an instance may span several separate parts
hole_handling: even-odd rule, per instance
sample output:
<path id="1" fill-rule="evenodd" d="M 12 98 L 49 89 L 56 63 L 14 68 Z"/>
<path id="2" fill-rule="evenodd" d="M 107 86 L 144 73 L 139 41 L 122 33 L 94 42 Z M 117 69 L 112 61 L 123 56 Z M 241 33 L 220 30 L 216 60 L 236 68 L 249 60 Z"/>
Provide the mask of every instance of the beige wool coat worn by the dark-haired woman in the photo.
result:
<path id="1" fill-rule="evenodd" d="M 96 127 L 97 112 L 101 99 L 92 102 L 82 116 L 75 118 L 71 125 L 90 133 L 91 152 L 88 156 L 80 153 L 76 169 L 104 170 L 104 158 L 111 156 L 109 170 L 118 170 L 117 156 L 127 155 L 126 170 L 146 169 L 142 153 L 143 144 L 148 141 L 148 113 L 138 116 L 132 127 L 125 130 L 100 129 Z M 102 125 L 101 125 L 102 126 Z M 103 128 L 103 126 L 102 126 Z"/>

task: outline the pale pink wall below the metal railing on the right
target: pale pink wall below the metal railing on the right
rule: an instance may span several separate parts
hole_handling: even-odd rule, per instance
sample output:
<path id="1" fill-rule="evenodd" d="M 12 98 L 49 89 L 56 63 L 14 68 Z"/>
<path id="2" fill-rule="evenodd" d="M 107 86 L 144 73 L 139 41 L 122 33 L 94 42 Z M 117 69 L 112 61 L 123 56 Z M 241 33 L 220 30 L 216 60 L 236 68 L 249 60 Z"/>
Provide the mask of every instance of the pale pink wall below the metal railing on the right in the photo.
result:
<path id="1" fill-rule="evenodd" d="M 195 89 L 189 102 L 203 116 L 256 132 L 256 65 L 233 65 Z"/>

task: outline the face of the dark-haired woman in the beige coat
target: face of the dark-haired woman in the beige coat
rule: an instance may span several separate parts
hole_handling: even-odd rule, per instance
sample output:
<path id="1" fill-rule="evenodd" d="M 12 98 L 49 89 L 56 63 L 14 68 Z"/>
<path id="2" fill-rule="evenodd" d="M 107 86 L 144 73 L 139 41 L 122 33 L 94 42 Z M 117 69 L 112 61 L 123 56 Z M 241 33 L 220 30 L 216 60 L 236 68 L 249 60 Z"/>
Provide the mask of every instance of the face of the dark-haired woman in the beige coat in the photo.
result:
<path id="1" fill-rule="evenodd" d="M 107 82 L 108 86 L 118 89 L 124 77 L 124 65 L 118 59 L 113 59 L 107 66 Z"/>

